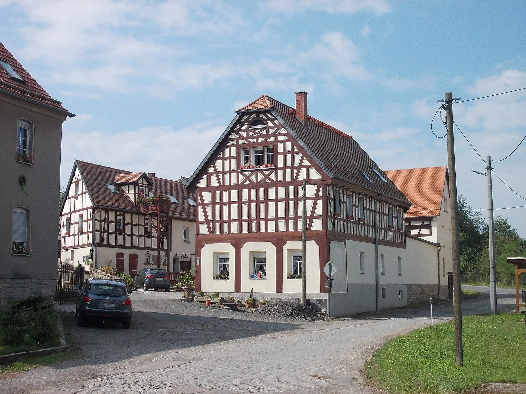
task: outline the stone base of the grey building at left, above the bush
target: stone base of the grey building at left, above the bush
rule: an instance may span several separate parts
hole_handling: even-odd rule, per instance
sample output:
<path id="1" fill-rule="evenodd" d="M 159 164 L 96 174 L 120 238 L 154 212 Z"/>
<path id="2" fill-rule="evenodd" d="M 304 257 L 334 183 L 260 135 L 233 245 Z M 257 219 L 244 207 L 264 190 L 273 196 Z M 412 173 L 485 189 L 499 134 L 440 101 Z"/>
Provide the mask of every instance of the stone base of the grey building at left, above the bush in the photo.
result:
<path id="1" fill-rule="evenodd" d="M 0 278 L 0 308 L 5 308 L 9 301 L 40 295 L 46 297 L 49 303 L 53 303 L 56 285 L 55 279 Z"/>

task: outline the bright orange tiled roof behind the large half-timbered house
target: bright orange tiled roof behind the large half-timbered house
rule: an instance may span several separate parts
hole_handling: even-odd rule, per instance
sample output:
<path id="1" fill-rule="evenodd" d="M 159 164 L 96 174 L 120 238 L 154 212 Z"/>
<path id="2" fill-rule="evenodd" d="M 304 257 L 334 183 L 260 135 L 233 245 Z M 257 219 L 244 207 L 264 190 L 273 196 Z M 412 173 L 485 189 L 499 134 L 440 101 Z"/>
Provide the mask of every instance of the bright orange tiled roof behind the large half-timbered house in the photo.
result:
<path id="1" fill-rule="evenodd" d="M 447 167 L 428 167 L 392 170 L 386 174 L 413 203 L 406 216 L 418 217 L 440 214 L 447 171 Z"/>

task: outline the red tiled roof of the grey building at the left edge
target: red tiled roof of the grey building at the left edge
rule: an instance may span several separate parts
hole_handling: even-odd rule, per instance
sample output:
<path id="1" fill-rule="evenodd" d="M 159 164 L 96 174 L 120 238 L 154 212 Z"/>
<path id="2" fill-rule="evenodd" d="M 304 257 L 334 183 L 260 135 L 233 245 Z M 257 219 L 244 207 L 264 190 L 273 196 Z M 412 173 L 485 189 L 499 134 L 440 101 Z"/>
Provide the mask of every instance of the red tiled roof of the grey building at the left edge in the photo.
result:
<path id="1" fill-rule="evenodd" d="M 46 104 L 50 107 L 57 108 L 62 111 L 66 111 L 60 101 L 53 99 L 48 93 L 38 84 L 38 82 L 26 71 L 24 67 L 15 57 L 6 49 L 6 47 L 0 43 L 0 59 L 7 61 L 7 63 L 13 67 L 19 76 L 24 79 L 24 82 L 12 79 L 2 66 L 0 66 L 0 90 L 16 94 L 23 98 L 28 98 L 40 103 Z M 71 116 L 75 116 L 71 114 Z"/>

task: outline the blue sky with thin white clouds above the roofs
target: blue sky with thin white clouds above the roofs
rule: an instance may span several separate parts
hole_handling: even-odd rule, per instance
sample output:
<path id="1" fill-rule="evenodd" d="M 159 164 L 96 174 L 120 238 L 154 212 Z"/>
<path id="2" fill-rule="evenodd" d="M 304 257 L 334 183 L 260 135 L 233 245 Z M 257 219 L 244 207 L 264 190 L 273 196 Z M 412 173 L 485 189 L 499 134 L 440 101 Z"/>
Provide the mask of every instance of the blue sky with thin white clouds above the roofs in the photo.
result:
<path id="1" fill-rule="evenodd" d="M 523 1 L 0 0 L 0 18 L 1 42 L 77 114 L 64 123 L 63 185 L 74 159 L 188 175 L 237 108 L 264 93 L 292 106 L 297 90 L 382 169 L 446 165 L 429 127 L 445 91 L 526 87 Z M 453 111 L 484 158 L 526 134 L 526 90 Z M 470 171 L 484 164 L 458 132 L 456 149 L 459 192 L 486 208 L 485 179 Z M 526 198 L 525 168 L 526 144 L 494 165 Z M 493 184 L 495 208 L 526 205 Z M 526 237 L 526 208 L 499 212 Z"/>

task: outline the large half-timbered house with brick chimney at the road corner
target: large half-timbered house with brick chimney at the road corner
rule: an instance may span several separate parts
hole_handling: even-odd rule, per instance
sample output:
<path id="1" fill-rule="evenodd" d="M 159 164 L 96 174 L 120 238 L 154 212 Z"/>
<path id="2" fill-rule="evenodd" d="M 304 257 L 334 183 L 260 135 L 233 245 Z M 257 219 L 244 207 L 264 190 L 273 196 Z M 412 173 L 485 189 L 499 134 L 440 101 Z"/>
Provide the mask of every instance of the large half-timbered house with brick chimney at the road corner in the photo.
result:
<path id="1" fill-rule="evenodd" d="M 352 137 L 308 115 L 306 92 L 296 108 L 263 95 L 239 109 L 186 185 L 197 202 L 197 289 L 298 298 L 305 264 L 307 298 L 324 308 L 331 261 L 331 314 L 344 315 L 414 302 L 407 285 L 436 279 L 436 245 L 406 249 L 411 202 Z"/>

